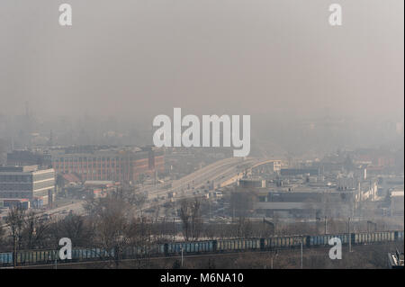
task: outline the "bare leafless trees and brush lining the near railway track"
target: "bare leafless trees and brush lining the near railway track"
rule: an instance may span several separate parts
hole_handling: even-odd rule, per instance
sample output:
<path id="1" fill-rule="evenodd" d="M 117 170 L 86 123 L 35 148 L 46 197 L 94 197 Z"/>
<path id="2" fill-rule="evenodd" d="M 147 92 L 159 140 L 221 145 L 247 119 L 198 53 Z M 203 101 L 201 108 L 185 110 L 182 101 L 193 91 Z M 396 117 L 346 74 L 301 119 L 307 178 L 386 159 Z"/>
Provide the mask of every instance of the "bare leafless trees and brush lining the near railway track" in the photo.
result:
<path id="1" fill-rule="evenodd" d="M 245 196 L 233 199 L 235 208 L 243 205 Z M 34 211 L 14 207 L 0 224 L 0 252 L 16 254 L 28 249 L 58 249 L 60 238 L 70 238 L 74 247 L 98 248 L 99 256 L 109 259 L 111 266 L 118 267 L 128 248 L 137 248 L 141 255 L 149 255 L 149 248 L 156 243 L 216 238 L 266 238 L 272 235 L 322 233 L 318 223 L 285 223 L 278 220 L 251 221 L 245 210 L 235 212 L 231 224 L 203 223 L 207 202 L 186 199 L 178 202 L 177 215 L 180 223 L 172 219 L 157 220 L 141 212 L 145 196 L 130 188 L 121 188 L 104 198 L 88 200 L 85 214 L 68 214 L 64 218 L 43 220 Z M 232 205 L 231 205 L 232 206 Z M 346 223 L 329 220 L 329 232 L 346 232 Z M 379 223 L 379 226 L 381 224 Z M 360 227 L 360 226 L 359 226 Z"/>

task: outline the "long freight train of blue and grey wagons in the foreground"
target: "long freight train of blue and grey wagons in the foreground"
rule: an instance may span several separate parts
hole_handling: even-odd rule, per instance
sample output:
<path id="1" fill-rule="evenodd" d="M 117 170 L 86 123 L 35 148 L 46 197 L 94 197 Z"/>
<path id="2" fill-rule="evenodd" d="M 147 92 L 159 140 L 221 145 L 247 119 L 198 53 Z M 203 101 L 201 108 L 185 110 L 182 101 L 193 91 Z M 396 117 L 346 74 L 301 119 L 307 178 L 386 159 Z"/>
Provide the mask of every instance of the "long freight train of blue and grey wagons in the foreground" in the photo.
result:
<path id="1" fill-rule="evenodd" d="M 377 244 L 404 240 L 404 231 L 374 231 L 337 235 L 316 236 L 274 236 L 271 238 L 236 238 L 217 239 L 195 242 L 173 242 L 155 244 L 145 247 L 126 247 L 120 255 L 122 259 L 141 258 L 144 256 L 174 256 L 184 253 L 229 253 L 241 251 L 266 251 L 294 247 L 329 246 L 330 238 L 339 238 L 343 245 L 351 241 L 353 245 Z M 16 265 L 50 265 L 58 262 L 58 250 L 27 250 L 16 254 Z M 0 253 L 0 266 L 13 266 L 14 254 Z M 114 257 L 114 250 L 101 248 L 73 248 L 72 259 L 67 262 L 105 260 Z M 60 262 L 60 261 L 59 261 Z"/>

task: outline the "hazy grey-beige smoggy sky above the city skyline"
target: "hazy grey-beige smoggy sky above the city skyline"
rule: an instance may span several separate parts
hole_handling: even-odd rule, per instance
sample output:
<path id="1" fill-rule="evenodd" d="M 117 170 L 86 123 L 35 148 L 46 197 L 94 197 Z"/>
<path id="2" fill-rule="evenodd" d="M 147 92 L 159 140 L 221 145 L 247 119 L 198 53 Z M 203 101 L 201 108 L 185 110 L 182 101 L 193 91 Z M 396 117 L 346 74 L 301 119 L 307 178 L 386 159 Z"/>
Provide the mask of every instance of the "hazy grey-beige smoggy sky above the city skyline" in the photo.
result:
<path id="1" fill-rule="evenodd" d="M 0 113 L 401 119 L 403 40 L 402 0 L 1 0 Z"/>

